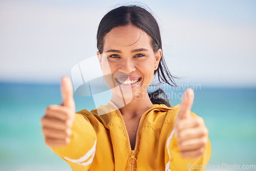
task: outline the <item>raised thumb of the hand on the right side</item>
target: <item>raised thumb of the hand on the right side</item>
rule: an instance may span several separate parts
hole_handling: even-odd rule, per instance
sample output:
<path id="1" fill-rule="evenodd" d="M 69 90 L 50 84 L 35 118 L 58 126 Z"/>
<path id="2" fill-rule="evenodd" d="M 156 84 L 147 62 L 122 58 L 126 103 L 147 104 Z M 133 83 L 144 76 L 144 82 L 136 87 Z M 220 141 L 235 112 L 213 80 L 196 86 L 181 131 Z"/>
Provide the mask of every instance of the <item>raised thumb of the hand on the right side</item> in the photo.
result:
<path id="1" fill-rule="evenodd" d="M 178 113 L 177 119 L 186 119 L 190 117 L 190 110 L 194 101 L 193 89 L 186 89 L 181 99 L 181 109 Z"/>

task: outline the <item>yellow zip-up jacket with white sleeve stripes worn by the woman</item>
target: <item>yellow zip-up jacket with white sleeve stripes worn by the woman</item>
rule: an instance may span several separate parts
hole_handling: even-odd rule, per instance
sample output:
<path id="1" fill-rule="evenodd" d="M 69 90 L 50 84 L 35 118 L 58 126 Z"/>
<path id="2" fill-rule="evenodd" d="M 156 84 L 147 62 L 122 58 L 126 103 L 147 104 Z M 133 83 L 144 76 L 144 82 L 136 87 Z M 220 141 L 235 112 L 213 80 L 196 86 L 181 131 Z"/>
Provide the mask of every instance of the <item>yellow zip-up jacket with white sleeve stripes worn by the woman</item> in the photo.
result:
<path id="1" fill-rule="evenodd" d="M 204 170 L 211 155 L 209 140 L 199 159 L 183 159 L 179 154 L 173 130 L 179 107 L 152 105 L 141 116 L 134 150 L 123 117 L 112 101 L 91 112 L 81 110 L 75 116 L 71 142 L 52 150 L 72 170 Z"/>

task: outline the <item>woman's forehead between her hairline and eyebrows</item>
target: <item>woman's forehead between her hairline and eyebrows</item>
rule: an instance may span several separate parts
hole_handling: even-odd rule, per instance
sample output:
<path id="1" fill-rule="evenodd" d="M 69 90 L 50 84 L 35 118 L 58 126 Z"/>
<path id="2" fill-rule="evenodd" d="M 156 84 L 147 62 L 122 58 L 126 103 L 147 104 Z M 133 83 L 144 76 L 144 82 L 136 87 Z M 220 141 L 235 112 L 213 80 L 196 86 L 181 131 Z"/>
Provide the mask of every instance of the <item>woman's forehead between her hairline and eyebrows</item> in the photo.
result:
<path id="1" fill-rule="evenodd" d="M 135 47 L 151 48 L 151 37 L 136 26 L 126 25 L 113 28 L 107 33 L 103 45 L 103 51 Z"/>

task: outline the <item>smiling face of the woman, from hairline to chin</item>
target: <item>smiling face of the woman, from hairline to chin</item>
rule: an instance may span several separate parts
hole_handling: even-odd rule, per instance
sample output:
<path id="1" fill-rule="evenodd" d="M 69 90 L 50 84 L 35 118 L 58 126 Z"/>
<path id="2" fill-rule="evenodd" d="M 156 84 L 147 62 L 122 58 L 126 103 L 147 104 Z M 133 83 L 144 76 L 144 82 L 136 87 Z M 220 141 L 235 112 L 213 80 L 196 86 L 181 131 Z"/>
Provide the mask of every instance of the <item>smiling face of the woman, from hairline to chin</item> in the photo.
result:
<path id="1" fill-rule="evenodd" d="M 158 68 L 161 49 L 154 53 L 151 37 L 133 25 L 113 28 L 103 41 L 102 54 L 97 52 L 97 56 L 106 83 L 111 89 L 119 87 L 123 94 L 140 98 Z"/>

